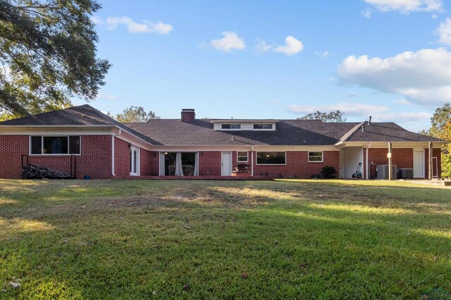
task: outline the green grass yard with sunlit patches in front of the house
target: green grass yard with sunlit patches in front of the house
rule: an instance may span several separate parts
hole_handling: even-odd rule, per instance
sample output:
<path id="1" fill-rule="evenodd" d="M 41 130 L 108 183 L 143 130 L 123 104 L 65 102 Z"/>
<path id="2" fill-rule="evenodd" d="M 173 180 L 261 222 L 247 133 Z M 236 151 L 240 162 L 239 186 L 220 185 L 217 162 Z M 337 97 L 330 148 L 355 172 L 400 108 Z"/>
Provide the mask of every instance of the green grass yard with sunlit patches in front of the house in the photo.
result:
<path id="1" fill-rule="evenodd" d="M 421 299 L 433 288 L 451 292 L 450 187 L 0 180 L 0 299 Z"/>

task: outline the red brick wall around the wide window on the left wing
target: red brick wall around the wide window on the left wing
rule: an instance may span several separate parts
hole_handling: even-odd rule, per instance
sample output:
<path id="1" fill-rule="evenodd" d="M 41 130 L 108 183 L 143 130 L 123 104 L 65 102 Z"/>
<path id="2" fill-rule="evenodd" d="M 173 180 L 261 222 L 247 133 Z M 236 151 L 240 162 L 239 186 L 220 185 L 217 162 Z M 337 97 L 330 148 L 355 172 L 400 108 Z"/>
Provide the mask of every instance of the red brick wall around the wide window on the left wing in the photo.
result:
<path id="1" fill-rule="evenodd" d="M 20 178 L 20 156 L 29 154 L 30 138 L 27 135 L 0 136 L 0 177 Z M 90 175 L 93 179 L 111 177 L 111 136 L 82 135 L 81 154 L 77 157 L 77 178 Z M 46 168 L 70 173 L 68 155 L 30 155 L 28 162 Z"/>

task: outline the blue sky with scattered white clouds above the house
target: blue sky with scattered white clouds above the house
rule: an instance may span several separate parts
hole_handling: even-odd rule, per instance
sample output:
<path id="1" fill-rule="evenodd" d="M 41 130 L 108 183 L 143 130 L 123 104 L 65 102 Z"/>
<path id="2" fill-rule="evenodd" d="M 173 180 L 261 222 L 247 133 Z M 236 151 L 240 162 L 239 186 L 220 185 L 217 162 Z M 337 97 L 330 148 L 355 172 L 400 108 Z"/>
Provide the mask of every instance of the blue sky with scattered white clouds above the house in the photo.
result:
<path id="1" fill-rule="evenodd" d="M 451 101 L 448 1 L 101 3 L 99 57 L 113 64 L 91 103 L 101 111 L 285 119 L 338 109 L 418 131 Z"/>

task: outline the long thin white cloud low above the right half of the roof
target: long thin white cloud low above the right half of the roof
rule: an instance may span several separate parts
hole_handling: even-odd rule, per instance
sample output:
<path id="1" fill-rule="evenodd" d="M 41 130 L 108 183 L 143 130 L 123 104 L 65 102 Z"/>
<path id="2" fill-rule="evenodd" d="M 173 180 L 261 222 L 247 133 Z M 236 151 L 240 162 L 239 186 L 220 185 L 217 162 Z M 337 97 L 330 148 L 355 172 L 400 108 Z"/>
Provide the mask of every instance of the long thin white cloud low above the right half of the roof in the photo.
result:
<path id="1" fill-rule="evenodd" d="M 315 113 L 316 111 L 341 111 L 345 113 L 346 116 L 368 116 L 373 115 L 374 113 L 383 113 L 388 111 L 387 106 L 378 106 L 378 105 L 367 105 L 367 104 L 359 104 L 359 103 L 340 103 L 340 104 L 330 104 L 323 106 L 302 106 L 292 104 L 287 106 L 288 110 L 295 114 L 308 114 Z"/>

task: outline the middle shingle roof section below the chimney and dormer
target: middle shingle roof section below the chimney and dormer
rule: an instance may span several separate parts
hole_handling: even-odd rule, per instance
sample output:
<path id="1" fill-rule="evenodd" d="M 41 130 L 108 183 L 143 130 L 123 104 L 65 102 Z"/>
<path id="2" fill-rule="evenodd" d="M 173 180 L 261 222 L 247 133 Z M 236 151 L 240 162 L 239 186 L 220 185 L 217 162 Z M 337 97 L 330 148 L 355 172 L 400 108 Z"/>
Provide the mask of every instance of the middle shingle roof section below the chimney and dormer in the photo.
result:
<path id="1" fill-rule="evenodd" d="M 184 123 L 152 119 L 125 123 L 166 146 L 333 145 L 358 123 L 322 123 L 319 120 L 280 120 L 274 131 L 214 131 L 210 120 Z"/>

